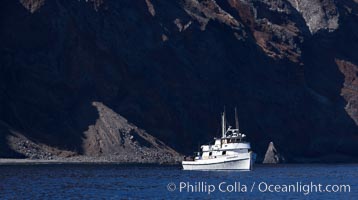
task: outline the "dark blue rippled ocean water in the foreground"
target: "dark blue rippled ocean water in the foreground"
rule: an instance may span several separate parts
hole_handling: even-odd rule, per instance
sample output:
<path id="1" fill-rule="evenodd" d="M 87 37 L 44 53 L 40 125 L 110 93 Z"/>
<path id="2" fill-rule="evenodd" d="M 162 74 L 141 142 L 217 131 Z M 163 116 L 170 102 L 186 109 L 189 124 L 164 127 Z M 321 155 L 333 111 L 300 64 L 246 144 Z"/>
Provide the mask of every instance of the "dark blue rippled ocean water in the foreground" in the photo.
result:
<path id="1" fill-rule="evenodd" d="M 0 166 L 0 199 L 358 199 L 358 165 L 256 165 L 247 172 L 143 165 Z"/>

